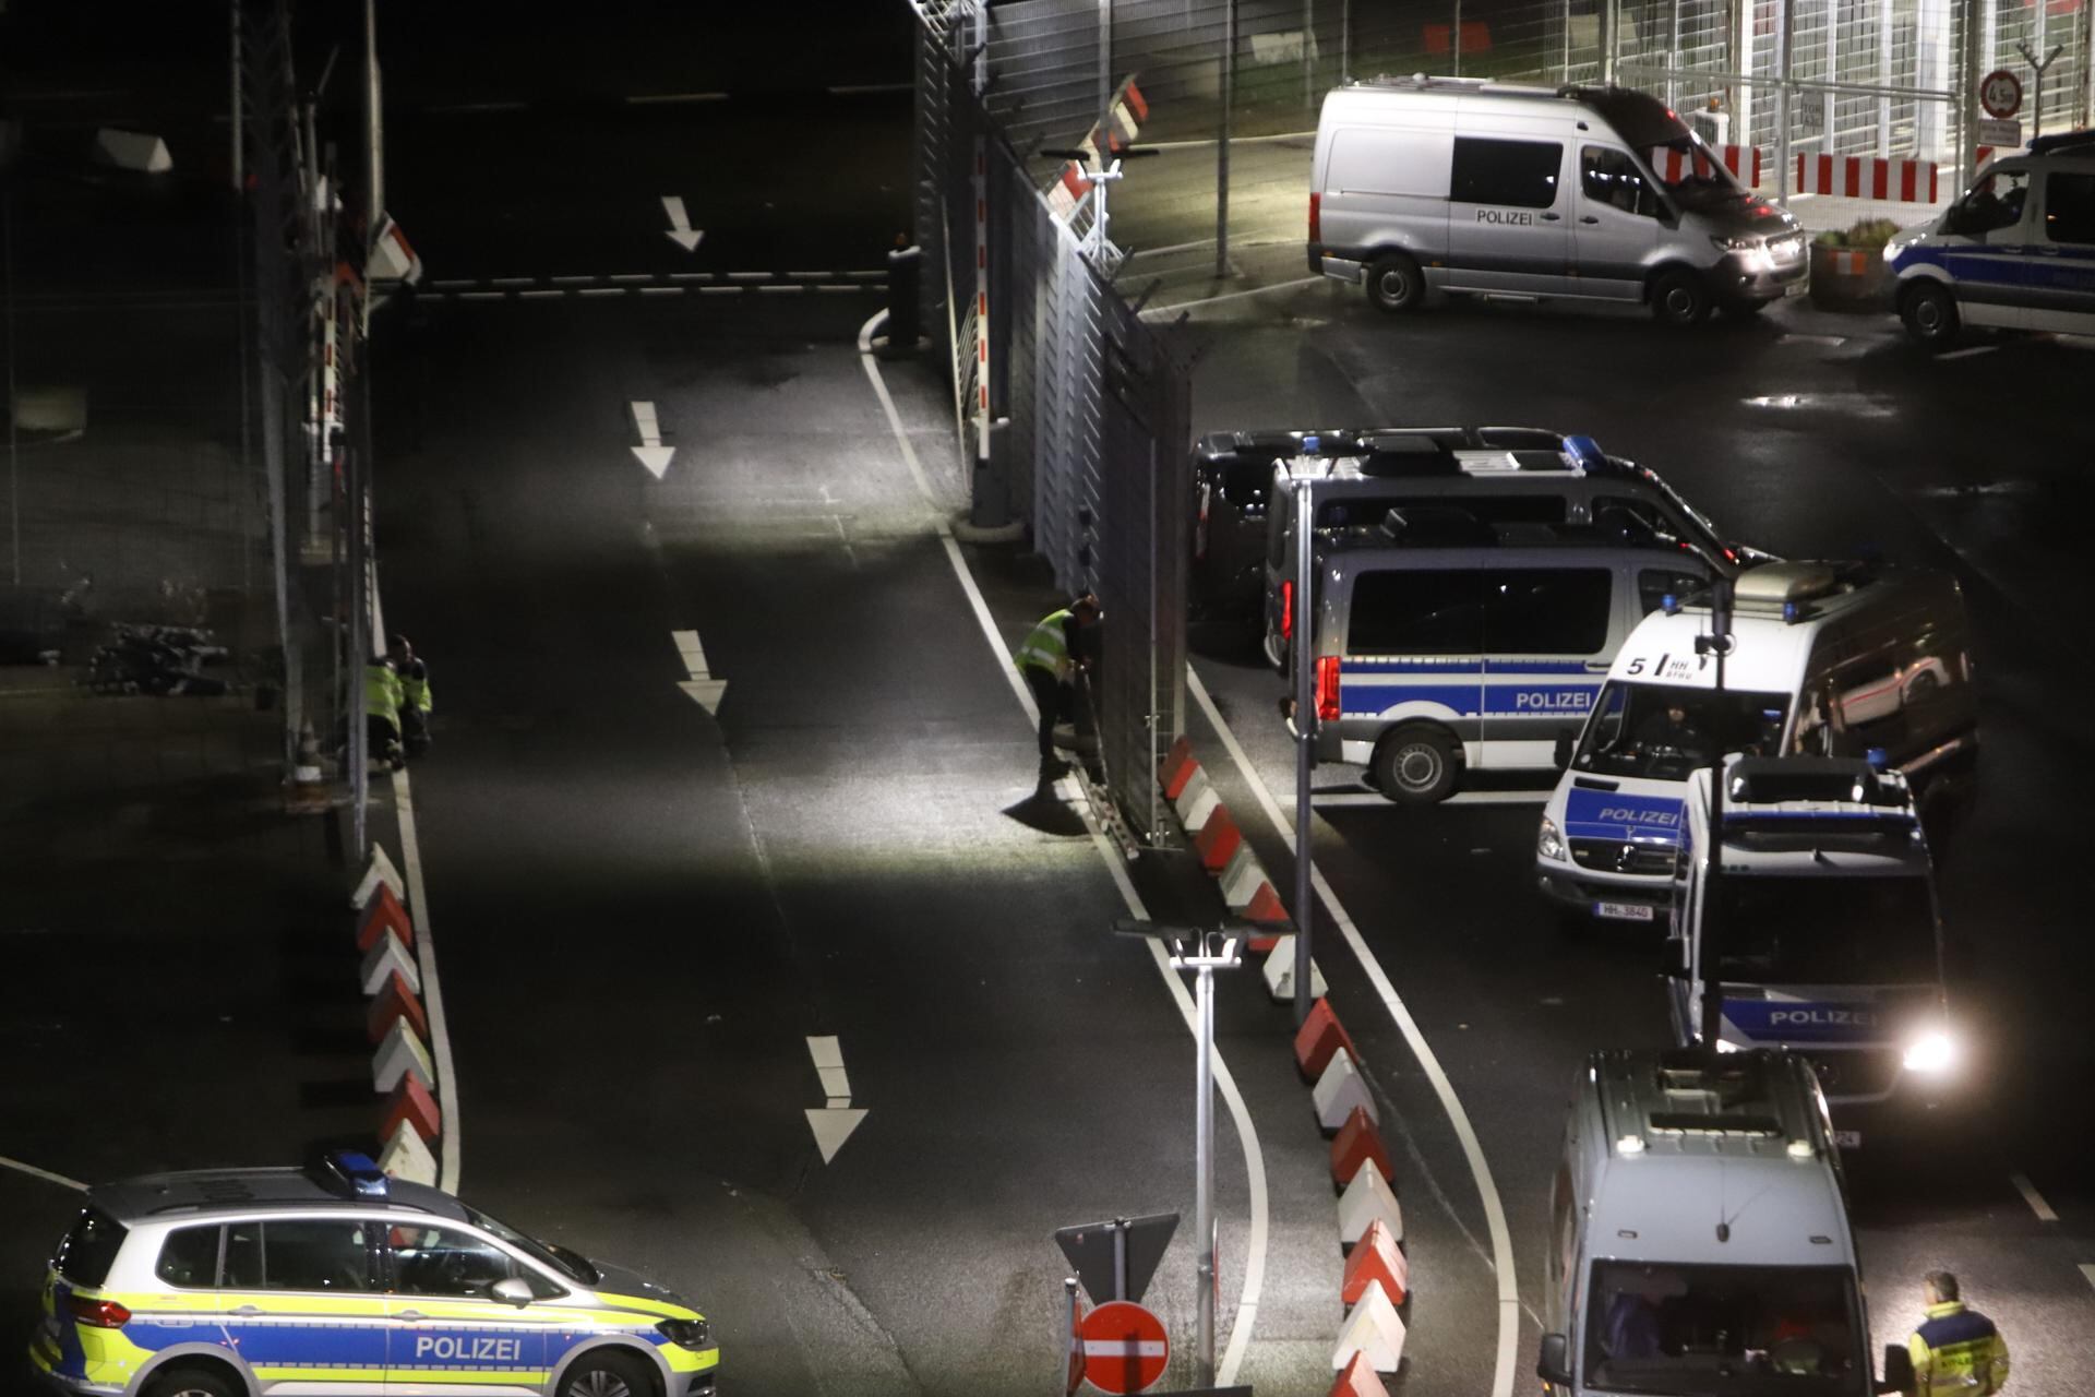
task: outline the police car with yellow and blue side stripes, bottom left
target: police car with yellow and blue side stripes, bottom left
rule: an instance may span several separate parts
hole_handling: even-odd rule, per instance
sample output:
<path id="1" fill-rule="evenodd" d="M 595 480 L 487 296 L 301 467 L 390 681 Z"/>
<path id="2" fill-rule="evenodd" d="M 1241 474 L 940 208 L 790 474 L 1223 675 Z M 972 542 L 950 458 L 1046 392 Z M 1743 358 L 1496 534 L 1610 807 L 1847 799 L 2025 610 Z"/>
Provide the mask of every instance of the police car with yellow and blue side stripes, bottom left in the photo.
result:
<path id="1" fill-rule="evenodd" d="M 90 1190 L 29 1361 L 122 1397 L 712 1397 L 721 1351 L 662 1286 L 337 1152 Z"/>

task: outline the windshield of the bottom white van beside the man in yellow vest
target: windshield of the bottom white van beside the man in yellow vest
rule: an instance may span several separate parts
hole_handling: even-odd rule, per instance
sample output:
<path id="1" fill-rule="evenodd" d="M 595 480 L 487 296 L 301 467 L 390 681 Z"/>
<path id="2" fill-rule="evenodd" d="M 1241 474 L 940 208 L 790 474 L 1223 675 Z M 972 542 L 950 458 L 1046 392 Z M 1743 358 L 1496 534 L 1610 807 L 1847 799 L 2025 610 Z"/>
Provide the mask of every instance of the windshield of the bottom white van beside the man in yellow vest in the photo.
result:
<path id="1" fill-rule="evenodd" d="M 1588 1391 L 1871 1391 L 1848 1267 L 1596 1261 L 1590 1294 Z"/>

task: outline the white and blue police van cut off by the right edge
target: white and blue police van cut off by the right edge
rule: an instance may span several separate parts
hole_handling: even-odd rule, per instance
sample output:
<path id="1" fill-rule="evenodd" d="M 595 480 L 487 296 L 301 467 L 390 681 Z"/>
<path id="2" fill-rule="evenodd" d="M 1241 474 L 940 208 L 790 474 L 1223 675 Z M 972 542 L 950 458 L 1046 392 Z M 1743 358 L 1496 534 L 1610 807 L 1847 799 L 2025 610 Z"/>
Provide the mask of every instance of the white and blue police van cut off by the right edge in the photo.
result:
<path id="1" fill-rule="evenodd" d="M 1927 346 L 1965 325 L 2095 335 L 2095 130 L 2038 136 L 1883 247 L 1898 318 Z"/>

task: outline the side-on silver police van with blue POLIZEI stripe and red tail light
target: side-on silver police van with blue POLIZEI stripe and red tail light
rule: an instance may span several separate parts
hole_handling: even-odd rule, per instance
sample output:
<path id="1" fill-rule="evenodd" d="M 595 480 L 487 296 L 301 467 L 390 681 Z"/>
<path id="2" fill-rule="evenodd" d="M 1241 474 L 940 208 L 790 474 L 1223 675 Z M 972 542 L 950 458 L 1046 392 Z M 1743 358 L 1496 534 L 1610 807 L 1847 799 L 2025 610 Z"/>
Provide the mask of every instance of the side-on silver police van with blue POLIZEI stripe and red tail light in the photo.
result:
<path id="1" fill-rule="evenodd" d="M 1546 769 L 1622 641 L 1695 553 L 1500 536 L 1337 553 L 1316 607 L 1316 754 L 1433 804 L 1469 771 Z"/>

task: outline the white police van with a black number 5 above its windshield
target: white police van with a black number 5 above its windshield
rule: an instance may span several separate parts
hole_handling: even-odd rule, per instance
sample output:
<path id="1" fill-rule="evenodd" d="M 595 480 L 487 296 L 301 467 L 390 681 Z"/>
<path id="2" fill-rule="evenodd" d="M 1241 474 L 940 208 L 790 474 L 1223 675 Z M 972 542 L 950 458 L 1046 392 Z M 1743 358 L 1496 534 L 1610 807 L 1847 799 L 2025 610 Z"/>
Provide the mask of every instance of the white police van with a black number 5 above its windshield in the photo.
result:
<path id="1" fill-rule="evenodd" d="M 1682 796 L 1718 752 L 1886 762 L 1934 802 L 1969 790 L 1978 702 L 1957 580 L 1862 563 L 1764 563 L 1735 582 L 1724 691 L 1705 599 L 1624 641 L 1542 808 L 1536 878 L 1573 919 L 1659 922 Z M 1946 806 L 1944 806 L 1946 808 Z"/>

